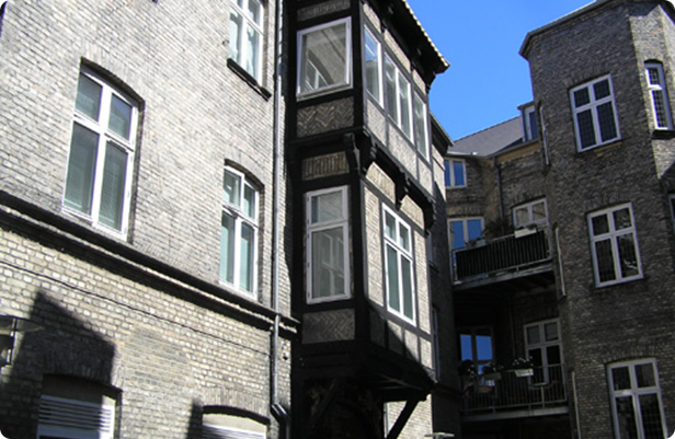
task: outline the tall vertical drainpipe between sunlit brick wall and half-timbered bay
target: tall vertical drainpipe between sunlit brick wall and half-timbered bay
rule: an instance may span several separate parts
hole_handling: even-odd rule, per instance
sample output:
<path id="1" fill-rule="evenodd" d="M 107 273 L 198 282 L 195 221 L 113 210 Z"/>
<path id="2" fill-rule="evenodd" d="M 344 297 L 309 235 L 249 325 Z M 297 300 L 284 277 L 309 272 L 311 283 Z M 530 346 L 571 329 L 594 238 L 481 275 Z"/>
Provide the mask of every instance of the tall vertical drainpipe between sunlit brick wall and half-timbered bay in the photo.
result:
<path id="1" fill-rule="evenodd" d="M 272 304 L 274 308 L 274 327 L 272 333 L 271 385 L 270 404 L 274 418 L 284 430 L 284 438 L 290 439 L 290 415 L 279 403 L 278 374 L 279 374 L 279 324 L 282 320 L 279 310 L 279 206 L 281 206 L 281 174 L 282 174 L 282 86 L 283 71 L 283 18 L 284 1 L 276 4 L 276 45 L 274 53 L 274 187 L 272 207 Z"/>

